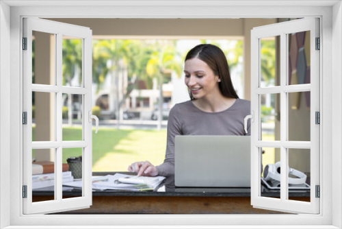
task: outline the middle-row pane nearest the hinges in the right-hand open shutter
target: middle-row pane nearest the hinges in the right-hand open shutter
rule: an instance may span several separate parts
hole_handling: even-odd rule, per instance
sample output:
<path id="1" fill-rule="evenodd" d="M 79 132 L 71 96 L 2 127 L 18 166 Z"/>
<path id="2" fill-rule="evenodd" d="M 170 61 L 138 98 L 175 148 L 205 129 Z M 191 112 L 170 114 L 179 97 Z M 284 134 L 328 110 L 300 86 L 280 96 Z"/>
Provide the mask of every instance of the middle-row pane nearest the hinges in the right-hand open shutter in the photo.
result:
<path id="1" fill-rule="evenodd" d="M 311 93 L 289 93 L 288 141 L 311 141 Z"/>

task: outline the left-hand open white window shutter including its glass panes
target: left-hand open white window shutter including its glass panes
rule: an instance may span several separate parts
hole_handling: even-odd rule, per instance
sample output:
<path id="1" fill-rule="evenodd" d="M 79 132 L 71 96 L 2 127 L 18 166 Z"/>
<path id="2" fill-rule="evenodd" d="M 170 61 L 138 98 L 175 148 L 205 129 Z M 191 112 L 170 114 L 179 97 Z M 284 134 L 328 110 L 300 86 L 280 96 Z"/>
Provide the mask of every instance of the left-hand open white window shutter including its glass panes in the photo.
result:
<path id="1" fill-rule="evenodd" d="M 39 36 L 38 36 L 39 34 Z M 39 40 L 45 37 L 47 40 Z M 35 40 L 35 41 L 34 41 Z M 34 41 L 34 42 L 33 42 Z M 42 49 L 42 43 L 47 46 Z M 77 43 L 79 49 L 64 49 L 66 43 Z M 46 44 L 45 44 L 46 45 Z M 40 47 L 40 50 L 38 50 Z M 33 52 L 33 49 L 36 51 Z M 44 62 L 38 53 L 47 52 L 49 63 Z M 32 56 L 32 54 L 36 56 Z M 68 56 L 65 56 L 68 55 Z M 79 55 L 78 62 L 73 62 Z M 44 55 L 40 55 L 44 56 Z M 70 60 L 63 63 L 65 60 Z M 68 59 L 69 58 L 69 59 Z M 36 62 L 33 64 L 33 60 Z M 71 63 L 71 64 L 70 64 Z M 78 64 L 75 67 L 75 64 Z M 36 67 L 34 73 L 33 67 Z M 46 75 L 38 76 L 37 68 L 48 67 Z M 76 77 L 78 86 L 66 84 L 65 67 Z M 34 74 L 33 74 L 34 73 Z M 38 79 L 39 78 L 39 79 Z M 78 79 L 79 78 L 79 79 Z M 70 82 L 70 81 L 69 81 Z M 62 115 L 65 97 L 78 99 L 77 114 L 81 121 L 79 129 L 82 134 L 75 141 L 68 141 L 62 132 Z M 92 104 L 92 30 L 88 27 L 68 25 L 43 19 L 23 19 L 23 213 L 44 214 L 65 210 L 89 208 L 92 204 L 92 123 L 89 121 Z M 44 100 L 45 99 L 45 100 Z M 69 109 L 70 117 L 75 115 L 75 109 Z M 76 114 L 76 115 L 77 115 Z M 45 128 L 45 129 L 44 129 Z M 33 135 L 32 132 L 35 132 Z M 40 135 L 38 134 L 40 132 Z M 44 134 L 45 133 L 45 134 Z M 79 134 L 80 135 L 80 134 Z M 64 139 L 65 138 L 65 139 Z M 81 191 L 66 195 L 64 182 L 77 178 L 74 173 L 65 171 L 67 152 L 75 150 L 73 156 L 82 156 Z M 38 159 L 50 158 L 52 171 L 42 176 L 36 175 L 35 169 L 40 165 L 32 165 L 33 155 Z M 44 160 L 44 159 L 43 159 Z M 50 164 L 51 164 L 50 162 Z M 35 171 L 35 172 L 34 172 Z M 38 171 L 37 173 L 42 173 Z M 71 177 L 73 176 L 73 178 Z M 44 184 L 44 185 L 43 185 Z M 42 187 L 44 186 L 44 187 Z M 47 187 L 49 186 L 49 187 Z M 34 200 L 33 189 L 51 189 L 53 196 L 48 200 Z M 44 192 L 44 191 L 43 191 Z M 33 201 L 34 200 L 34 201 Z"/>

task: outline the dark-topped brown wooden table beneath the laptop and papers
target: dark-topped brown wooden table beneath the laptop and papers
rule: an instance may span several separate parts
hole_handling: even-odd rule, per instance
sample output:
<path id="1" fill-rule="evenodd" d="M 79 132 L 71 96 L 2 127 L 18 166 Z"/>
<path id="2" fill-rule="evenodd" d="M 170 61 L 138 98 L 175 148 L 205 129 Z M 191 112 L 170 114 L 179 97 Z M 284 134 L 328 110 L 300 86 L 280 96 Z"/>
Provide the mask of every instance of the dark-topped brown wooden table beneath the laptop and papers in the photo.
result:
<path id="1" fill-rule="evenodd" d="M 109 173 L 93 173 L 104 176 Z M 111 173 L 113 174 L 113 173 Z M 77 194 L 78 193 L 78 194 Z M 80 191 L 63 192 L 73 197 Z M 37 192 L 34 202 L 51 200 L 53 193 Z M 274 193 L 270 193 L 274 195 Z M 310 193 L 291 193 L 291 200 L 310 201 Z M 272 210 L 261 210 L 250 205 L 250 189 L 222 189 L 222 192 L 118 192 L 94 191 L 92 206 L 55 214 L 285 214 Z"/>

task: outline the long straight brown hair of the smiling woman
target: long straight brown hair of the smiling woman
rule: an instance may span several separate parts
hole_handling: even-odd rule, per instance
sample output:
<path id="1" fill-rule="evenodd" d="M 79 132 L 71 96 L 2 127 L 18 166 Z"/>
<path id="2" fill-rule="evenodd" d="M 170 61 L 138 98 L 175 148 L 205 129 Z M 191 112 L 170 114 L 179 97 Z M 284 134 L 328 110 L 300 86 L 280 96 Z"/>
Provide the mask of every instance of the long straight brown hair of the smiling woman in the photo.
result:
<path id="1" fill-rule="evenodd" d="M 218 85 L 224 97 L 239 98 L 231 80 L 231 73 L 229 72 L 226 56 L 219 47 L 210 44 L 197 45 L 187 53 L 185 61 L 192 58 L 198 58 L 206 62 L 211 70 L 213 70 L 213 73 L 220 77 L 221 82 Z M 192 99 L 194 98 L 191 92 L 190 97 Z"/>

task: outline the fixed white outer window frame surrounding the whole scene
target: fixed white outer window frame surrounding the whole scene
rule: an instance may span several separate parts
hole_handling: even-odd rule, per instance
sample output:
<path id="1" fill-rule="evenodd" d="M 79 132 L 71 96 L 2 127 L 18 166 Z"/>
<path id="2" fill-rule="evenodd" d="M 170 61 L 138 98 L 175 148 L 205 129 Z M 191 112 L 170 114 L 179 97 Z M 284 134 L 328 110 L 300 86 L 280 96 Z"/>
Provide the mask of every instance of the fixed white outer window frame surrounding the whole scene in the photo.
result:
<path id="1" fill-rule="evenodd" d="M 73 1 L 71 1 L 73 2 Z M 103 6 L 99 8 L 94 7 L 74 7 L 70 10 L 70 6 L 44 6 L 44 7 L 14 7 L 10 9 L 10 16 L 8 14 L 9 7 L 6 3 L 11 4 L 11 1 L 1 3 L 1 12 L 5 10 L 5 15 L 0 14 L 10 21 L 10 36 L 8 29 L 0 27 L 6 32 L 1 34 L 5 38 L 10 37 L 10 43 L 6 40 L 0 40 L 1 52 L 5 45 L 10 45 L 10 52 L 6 54 L 11 58 L 10 67 L 5 67 L 3 64 L 7 60 L 3 58 L 0 60 L 1 71 L 10 71 L 10 82 L 3 80 L 3 73 L 1 73 L 1 82 L 7 83 L 10 86 L 10 101 L 3 99 L 3 91 L 1 91 L 1 108 L 10 107 L 10 155 L 7 152 L 1 151 L 1 219 L 10 217 L 10 220 L 5 219 L 1 222 L 1 226 L 11 226 L 11 228 L 25 228 L 23 226 L 36 225 L 42 228 L 48 228 L 47 225 L 69 225 L 64 228 L 73 228 L 77 225 L 93 225 L 94 221 L 101 221 L 103 225 L 116 224 L 120 225 L 144 225 L 145 228 L 151 228 L 148 225 L 183 225 L 183 228 L 194 228 L 193 225 L 208 225 L 212 227 L 219 227 L 226 225 L 226 228 L 233 228 L 237 225 L 245 225 L 245 228 L 280 228 L 280 224 L 287 225 L 289 228 L 341 228 L 341 137 L 342 137 L 342 121 L 341 121 L 341 61 L 342 61 L 342 45 L 341 45 L 341 21 L 342 8 L 340 1 L 315 1 L 316 6 L 307 6 L 308 1 L 296 1 L 297 5 L 289 5 L 291 3 L 282 4 L 289 6 L 267 6 L 267 3 L 260 1 L 260 3 L 253 1 L 254 5 L 249 6 L 250 2 L 246 1 L 245 6 L 235 6 L 244 3 L 231 1 L 231 5 L 224 5 L 222 2 L 203 1 L 202 5 L 198 6 L 198 2 L 188 2 L 187 5 L 176 1 L 170 3 L 171 6 L 165 7 L 164 3 L 159 3 L 157 6 L 148 6 L 146 2 L 140 2 L 143 5 L 130 5 L 125 7 L 125 3 L 120 3 L 114 6 Z M 25 1 L 23 4 L 29 4 L 30 1 Z M 59 2 L 63 5 L 63 1 Z M 293 3 L 293 1 L 292 1 Z M 20 2 L 18 4 L 21 4 Z M 66 4 L 66 3 L 65 3 Z M 68 3 L 70 4 L 70 3 Z M 72 3 L 71 3 L 72 4 Z M 99 3 L 100 4 L 100 3 Z M 129 3 L 126 3 L 129 5 Z M 145 4 L 145 5 L 144 5 Z M 157 3 L 155 3 L 157 4 Z M 229 3 L 226 3 L 229 4 Z M 235 4 L 235 5 L 234 5 Z M 321 4 L 321 5 L 319 5 Z M 335 5 L 334 5 L 335 4 Z M 255 6 L 257 5 L 257 6 Z M 301 6 L 303 5 L 303 6 Z M 306 6 L 305 6 L 306 5 Z M 334 6 L 332 6 L 334 5 Z M 7 10 L 7 11 L 6 11 Z M 215 12 L 215 13 L 214 13 Z M 21 208 L 21 163 L 18 167 L 18 162 L 21 162 L 22 139 L 18 136 L 21 134 L 21 72 L 18 65 L 21 62 L 21 21 L 23 16 L 41 16 L 47 17 L 116 17 L 116 18 L 233 18 L 233 17 L 287 17 L 293 18 L 298 16 L 318 16 L 321 19 L 321 156 L 322 165 L 320 167 L 321 173 L 321 214 L 319 215 L 22 215 Z M 332 21 L 332 18 L 334 21 Z M 1 25 L 6 21 L 1 21 Z M 9 24 L 8 24 L 9 26 Z M 332 49 L 334 45 L 334 49 Z M 1 57 L 3 57 L 1 53 Z M 324 81 L 324 82 L 323 82 Z M 332 83 L 334 82 L 334 83 Z M 19 93 L 18 93 L 19 92 Z M 334 96 L 332 96 L 334 95 Z M 11 104 L 11 105 L 10 105 Z M 331 104 L 334 104 L 332 106 Z M 3 110 L 1 110 L 1 117 Z M 5 113 L 8 115 L 8 113 Z M 332 125 L 332 118 L 334 125 Z M 4 121 L 1 120 L 1 125 Z M 2 130 L 1 130 L 2 131 Z M 334 133 L 334 134 L 332 134 Z M 3 143 L 1 136 L 1 143 Z M 332 151 L 334 149 L 334 151 Z M 6 161 L 7 160 L 7 161 Z M 10 163 L 8 163 L 10 160 Z M 6 163 L 8 165 L 6 165 Z M 324 168 L 324 169 L 323 169 Z M 10 178 L 7 178 L 5 169 L 10 171 Z M 334 183 L 332 182 L 334 180 Z M 11 182 L 10 182 L 11 181 Z M 5 186 L 5 182 L 10 182 L 10 187 Z M 10 200 L 5 200 L 10 196 Z M 332 201 L 332 197 L 334 201 Z M 4 204 L 3 204 L 4 203 Z M 10 213 L 5 213 L 5 210 L 10 208 Z M 229 227 L 231 225 L 231 227 Z M 260 226 L 263 225 L 263 226 Z M 278 225 L 278 226 L 277 226 Z M 294 226 L 296 225 L 296 226 Z M 302 225 L 302 226 L 301 226 Z M 305 226 L 306 225 L 306 226 Z M 316 226 L 316 227 L 315 227 Z M 116 227 L 116 228 L 118 228 Z M 176 226 L 174 226 L 176 227 Z M 180 226 L 179 226 L 180 227 Z M 88 227 L 90 228 L 90 227 Z M 96 228 L 96 226 L 94 226 Z M 113 226 L 115 228 L 115 226 Z M 141 228 L 141 227 L 139 227 Z M 198 228 L 198 227 L 197 227 Z M 222 228 L 224 228 L 222 226 Z M 244 227 L 239 227 L 244 228 Z"/>

